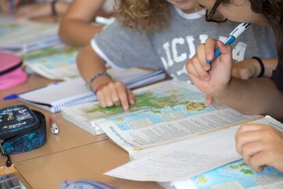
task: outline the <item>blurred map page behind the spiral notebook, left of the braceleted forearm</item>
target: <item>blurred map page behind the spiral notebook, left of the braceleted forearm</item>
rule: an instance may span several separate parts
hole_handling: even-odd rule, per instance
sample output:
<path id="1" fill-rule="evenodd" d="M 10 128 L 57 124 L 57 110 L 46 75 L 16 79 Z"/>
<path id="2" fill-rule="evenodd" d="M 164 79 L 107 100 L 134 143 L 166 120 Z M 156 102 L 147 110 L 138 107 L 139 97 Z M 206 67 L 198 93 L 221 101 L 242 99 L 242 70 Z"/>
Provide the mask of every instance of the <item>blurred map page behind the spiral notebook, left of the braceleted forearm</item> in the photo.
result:
<path id="1" fill-rule="evenodd" d="M 26 66 L 49 79 L 71 79 L 79 76 L 76 47 L 57 45 L 22 55 Z"/>

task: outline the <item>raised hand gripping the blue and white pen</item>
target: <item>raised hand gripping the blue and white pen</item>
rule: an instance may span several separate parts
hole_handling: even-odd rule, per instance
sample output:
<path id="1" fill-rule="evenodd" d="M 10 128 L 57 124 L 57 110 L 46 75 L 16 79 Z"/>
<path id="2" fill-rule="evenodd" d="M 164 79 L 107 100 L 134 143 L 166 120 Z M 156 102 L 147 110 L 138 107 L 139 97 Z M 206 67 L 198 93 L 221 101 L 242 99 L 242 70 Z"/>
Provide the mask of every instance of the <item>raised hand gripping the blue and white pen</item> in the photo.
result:
<path id="1" fill-rule="evenodd" d="M 207 64 L 206 59 L 213 60 L 215 48 L 221 51 L 221 55 Z M 211 97 L 217 97 L 231 78 L 232 48 L 219 40 L 208 38 L 205 44 L 198 46 L 196 55 L 187 62 L 186 68 L 196 87 Z"/>

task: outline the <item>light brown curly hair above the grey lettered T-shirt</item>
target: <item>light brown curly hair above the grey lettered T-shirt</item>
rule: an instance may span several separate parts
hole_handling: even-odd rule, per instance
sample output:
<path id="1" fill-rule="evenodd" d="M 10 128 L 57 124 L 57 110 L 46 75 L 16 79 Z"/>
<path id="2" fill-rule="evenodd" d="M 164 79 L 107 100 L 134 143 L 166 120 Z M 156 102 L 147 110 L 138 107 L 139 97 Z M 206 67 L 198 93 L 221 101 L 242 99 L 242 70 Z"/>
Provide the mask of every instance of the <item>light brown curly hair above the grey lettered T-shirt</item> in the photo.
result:
<path id="1" fill-rule="evenodd" d="M 116 11 L 124 27 L 162 29 L 167 26 L 169 3 L 165 0 L 116 0 Z"/>

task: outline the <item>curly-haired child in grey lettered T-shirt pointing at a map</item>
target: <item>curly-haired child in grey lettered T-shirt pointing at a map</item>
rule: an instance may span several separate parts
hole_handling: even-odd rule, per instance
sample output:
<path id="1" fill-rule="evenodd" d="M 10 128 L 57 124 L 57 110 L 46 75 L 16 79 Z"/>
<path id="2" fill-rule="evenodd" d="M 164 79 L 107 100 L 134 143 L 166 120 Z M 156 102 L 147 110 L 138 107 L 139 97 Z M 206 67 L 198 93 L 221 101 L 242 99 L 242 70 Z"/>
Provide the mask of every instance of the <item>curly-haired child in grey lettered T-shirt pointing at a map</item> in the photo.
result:
<path id="1" fill-rule="evenodd" d="M 106 74 L 105 62 L 114 68 L 162 68 L 180 81 L 189 81 L 185 62 L 196 53 L 196 45 L 205 42 L 208 36 L 225 40 L 239 24 L 206 23 L 204 10 L 196 9 L 194 0 L 121 0 L 118 5 L 121 21 L 96 34 L 91 45 L 85 46 L 77 56 L 79 71 L 96 92 L 102 107 L 122 104 L 127 110 L 129 104 L 135 103 L 132 92 Z M 234 61 L 254 55 L 275 57 L 272 40 L 262 40 L 266 35 L 273 38 L 269 30 L 254 26 L 245 32 L 234 43 Z"/>

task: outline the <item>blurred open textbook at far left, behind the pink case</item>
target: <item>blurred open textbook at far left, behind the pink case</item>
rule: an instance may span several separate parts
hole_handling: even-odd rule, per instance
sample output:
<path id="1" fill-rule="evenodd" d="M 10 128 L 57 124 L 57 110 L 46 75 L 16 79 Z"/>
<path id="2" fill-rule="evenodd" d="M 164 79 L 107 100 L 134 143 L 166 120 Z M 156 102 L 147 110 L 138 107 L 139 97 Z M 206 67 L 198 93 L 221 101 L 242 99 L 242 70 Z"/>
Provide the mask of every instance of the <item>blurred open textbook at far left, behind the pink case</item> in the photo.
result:
<path id="1" fill-rule="evenodd" d="M 0 50 L 29 52 L 60 43 L 57 36 L 58 25 L 32 21 L 12 21 L 5 16 L 0 23 Z"/>

